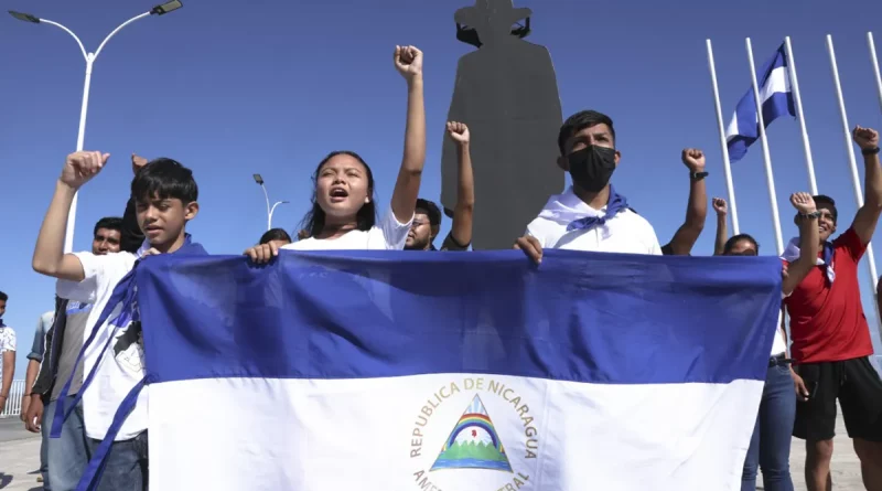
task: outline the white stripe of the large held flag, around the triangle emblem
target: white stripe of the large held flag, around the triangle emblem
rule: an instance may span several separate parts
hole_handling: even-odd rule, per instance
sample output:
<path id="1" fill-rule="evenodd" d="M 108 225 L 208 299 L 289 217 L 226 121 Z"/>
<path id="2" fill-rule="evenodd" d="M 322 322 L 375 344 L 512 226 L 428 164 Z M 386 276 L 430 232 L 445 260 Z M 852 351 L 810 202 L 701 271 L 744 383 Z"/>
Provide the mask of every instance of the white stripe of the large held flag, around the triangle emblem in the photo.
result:
<path id="1" fill-rule="evenodd" d="M 214 491 L 498 490 L 516 480 L 545 491 L 734 491 L 762 387 L 463 374 L 154 384 L 150 480 Z M 430 471 L 475 395 L 512 472 Z"/>

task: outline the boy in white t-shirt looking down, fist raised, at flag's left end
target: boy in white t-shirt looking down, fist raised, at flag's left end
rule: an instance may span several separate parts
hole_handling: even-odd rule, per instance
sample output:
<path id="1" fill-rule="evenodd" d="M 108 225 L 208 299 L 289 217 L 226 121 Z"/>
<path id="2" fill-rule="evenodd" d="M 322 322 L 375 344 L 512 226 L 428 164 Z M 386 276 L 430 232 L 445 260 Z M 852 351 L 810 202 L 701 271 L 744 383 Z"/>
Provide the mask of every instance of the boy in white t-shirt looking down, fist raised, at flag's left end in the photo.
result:
<path id="1" fill-rule="evenodd" d="M 198 213 L 198 189 L 193 173 L 174 160 L 155 159 L 138 170 L 131 183 L 138 225 L 147 238 L 138 253 L 104 256 L 92 253 L 63 254 L 67 215 L 74 195 L 100 172 L 108 158 L 109 154 L 95 151 L 67 156 L 40 228 L 33 256 L 34 270 L 58 279 L 58 297 L 93 305 L 85 337 L 89 337 L 115 288 L 133 269 L 140 257 L 193 249 L 204 253 L 201 246 L 190 243 L 185 233 L 186 223 Z M 111 308 L 115 308 L 114 314 L 100 325 L 93 343 L 82 352 L 84 373 L 98 367 L 94 378 L 97 385 L 87 389 L 87 377 L 80 388 L 83 419 L 93 452 L 106 436 L 114 436 L 112 446 L 101 463 L 103 473 L 97 489 L 146 490 L 147 391 L 140 393 L 118 433 L 114 435 L 110 431 L 122 399 L 144 377 L 143 348 L 138 332 L 140 323 L 131 322 L 132 318 L 125 308 L 119 316 L 116 314 L 119 309 L 116 306 Z M 101 348 L 110 337 L 114 340 L 110 341 L 108 357 L 112 359 L 103 360 Z M 57 381 L 62 384 L 66 382 Z M 67 395 L 64 392 L 60 396 L 60 405 Z"/>

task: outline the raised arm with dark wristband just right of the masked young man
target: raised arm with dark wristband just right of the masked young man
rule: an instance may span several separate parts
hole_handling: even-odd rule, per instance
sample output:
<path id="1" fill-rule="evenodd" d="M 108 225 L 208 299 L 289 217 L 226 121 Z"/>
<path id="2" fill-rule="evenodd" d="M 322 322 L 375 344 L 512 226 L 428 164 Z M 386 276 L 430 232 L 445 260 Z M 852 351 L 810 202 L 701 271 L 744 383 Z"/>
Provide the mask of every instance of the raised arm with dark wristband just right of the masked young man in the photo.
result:
<path id="1" fill-rule="evenodd" d="M 689 202 L 686 206 L 686 221 L 668 243 L 675 256 L 686 256 L 692 250 L 698 236 L 704 230 L 708 216 L 708 193 L 704 185 L 704 153 L 695 148 L 682 151 L 682 163 L 689 169 Z"/>

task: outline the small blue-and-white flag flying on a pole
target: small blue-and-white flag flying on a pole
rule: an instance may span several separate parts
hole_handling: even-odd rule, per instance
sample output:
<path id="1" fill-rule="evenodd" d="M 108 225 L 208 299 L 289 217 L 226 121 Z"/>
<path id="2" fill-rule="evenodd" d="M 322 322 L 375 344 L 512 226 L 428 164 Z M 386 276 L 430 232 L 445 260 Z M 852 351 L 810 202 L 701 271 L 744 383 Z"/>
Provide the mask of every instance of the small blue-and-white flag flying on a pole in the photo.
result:
<path id="1" fill-rule="evenodd" d="M 779 116 L 789 114 L 796 117 L 787 66 L 787 54 L 782 44 L 759 73 L 761 76 L 756 82 L 760 84 L 760 100 L 763 102 L 763 122 L 766 128 Z M 747 147 L 759 138 L 760 119 L 756 116 L 756 99 L 751 87 L 738 102 L 735 114 L 725 129 L 729 159 L 732 162 L 741 160 L 747 153 Z"/>

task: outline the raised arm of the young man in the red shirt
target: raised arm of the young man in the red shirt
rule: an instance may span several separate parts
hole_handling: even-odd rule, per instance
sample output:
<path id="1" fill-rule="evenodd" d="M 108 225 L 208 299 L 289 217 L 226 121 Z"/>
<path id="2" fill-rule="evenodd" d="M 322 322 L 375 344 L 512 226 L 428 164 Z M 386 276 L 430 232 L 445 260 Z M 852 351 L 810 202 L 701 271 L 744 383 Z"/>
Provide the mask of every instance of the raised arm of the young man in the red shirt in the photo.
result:
<path id="1" fill-rule="evenodd" d="M 865 245 L 873 237 L 879 215 L 882 214 L 882 170 L 879 168 L 879 132 L 870 128 L 854 127 L 854 142 L 863 154 L 863 206 L 854 215 L 851 227 Z"/>

